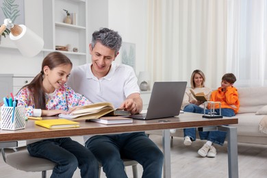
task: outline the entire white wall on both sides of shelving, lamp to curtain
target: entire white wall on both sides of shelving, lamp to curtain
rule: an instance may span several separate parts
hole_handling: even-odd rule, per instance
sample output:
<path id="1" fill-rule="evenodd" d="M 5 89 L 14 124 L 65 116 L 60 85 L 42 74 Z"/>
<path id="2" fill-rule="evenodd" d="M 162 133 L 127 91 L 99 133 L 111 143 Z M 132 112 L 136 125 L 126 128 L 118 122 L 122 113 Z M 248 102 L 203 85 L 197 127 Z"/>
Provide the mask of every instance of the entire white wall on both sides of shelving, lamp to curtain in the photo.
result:
<path id="1" fill-rule="evenodd" d="M 124 42 L 131 42 L 136 44 L 136 74 L 138 75 L 139 71 L 144 71 L 147 1 L 86 1 L 88 1 L 89 36 L 93 31 L 98 30 L 100 27 L 110 27 L 118 31 L 119 34 L 123 37 Z M 25 0 L 25 25 L 32 31 L 36 32 L 36 34 L 38 34 L 39 36 L 42 36 L 43 34 L 42 14 L 42 0 Z M 91 39 L 89 39 L 89 41 L 90 40 Z M 36 75 L 40 72 L 42 60 L 44 56 L 47 55 L 47 53 L 40 53 L 34 58 L 25 58 L 23 57 L 23 55 L 21 55 L 21 53 L 18 52 L 17 49 L 3 48 L 3 44 L 5 44 L 5 46 L 11 45 L 12 47 L 14 47 L 14 44 L 10 42 L 8 38 L 2 38 L 1 43 L 2 47 L 0 44 L 0 73 Z M 90 59 L 88 61 L 90 61 Z"/>

